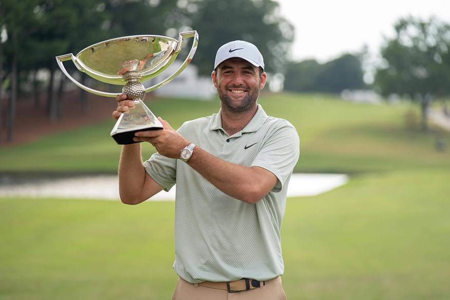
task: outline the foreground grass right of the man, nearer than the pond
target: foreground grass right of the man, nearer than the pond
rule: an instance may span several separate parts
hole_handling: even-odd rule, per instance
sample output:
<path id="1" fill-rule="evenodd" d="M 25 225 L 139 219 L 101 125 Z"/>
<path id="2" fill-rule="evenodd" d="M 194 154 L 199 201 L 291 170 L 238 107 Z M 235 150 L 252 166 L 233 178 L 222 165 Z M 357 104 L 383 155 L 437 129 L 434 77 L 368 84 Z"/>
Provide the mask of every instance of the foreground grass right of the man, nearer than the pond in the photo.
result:
<path id="1" fill-rule="evenodd" d="M 449 179 L 446 170 L 366 174 L 289 199 L 283 278 L 292 298 L 448 298 Z"/>

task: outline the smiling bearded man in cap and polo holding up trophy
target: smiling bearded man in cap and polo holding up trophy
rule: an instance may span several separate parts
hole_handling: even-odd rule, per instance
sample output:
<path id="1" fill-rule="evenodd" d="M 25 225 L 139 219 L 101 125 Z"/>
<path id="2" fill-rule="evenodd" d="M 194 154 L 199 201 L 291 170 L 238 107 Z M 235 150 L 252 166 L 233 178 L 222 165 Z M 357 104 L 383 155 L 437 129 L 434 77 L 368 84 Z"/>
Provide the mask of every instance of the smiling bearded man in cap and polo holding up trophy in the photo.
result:
<path id="1" fill-rule="evenodd" d="M 137 204 L 177 184 L 173 299 L 286 299 L 280 226 L 289 179 L 299 155 L 295 128 L 257 104 L 266 84 L 253 44 L 234 41 L 216 54 L 218 114 L 175 131 L 136 133 L 158 153 L 142 163 L 139 143 L 124 145 L 121 200 Z M 114 118 L 133 108 L 117 97 Z"/>

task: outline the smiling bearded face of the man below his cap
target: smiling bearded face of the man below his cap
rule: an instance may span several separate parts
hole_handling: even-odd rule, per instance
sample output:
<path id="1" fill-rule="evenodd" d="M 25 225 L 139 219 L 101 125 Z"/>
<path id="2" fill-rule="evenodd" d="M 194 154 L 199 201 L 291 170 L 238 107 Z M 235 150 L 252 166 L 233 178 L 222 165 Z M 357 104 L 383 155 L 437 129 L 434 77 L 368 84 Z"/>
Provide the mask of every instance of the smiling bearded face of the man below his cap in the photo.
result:
<path id="1" fill-rule="evenodd" d="M 264 72 L 259 76 L 259 67 L 240 58 L 224 61 L 217 66 L 217 75 L 212 73 L 222 108 L 234 112 L 246 111 L 256 105 L 266 78 Z"/>

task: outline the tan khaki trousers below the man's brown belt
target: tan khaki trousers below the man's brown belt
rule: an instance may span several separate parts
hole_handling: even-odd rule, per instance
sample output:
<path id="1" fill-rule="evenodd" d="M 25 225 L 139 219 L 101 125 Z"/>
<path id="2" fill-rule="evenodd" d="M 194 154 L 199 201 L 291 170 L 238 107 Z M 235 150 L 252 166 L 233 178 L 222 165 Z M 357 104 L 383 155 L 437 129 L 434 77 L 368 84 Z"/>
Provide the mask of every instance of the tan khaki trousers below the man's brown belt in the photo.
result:
<path id="1" fill-rule="evenodd" d="M 262 288 L 229 293 L 225 290 L 202 287 L 179 278 L 172 300 L 286 300 L 281 277 Z"/>

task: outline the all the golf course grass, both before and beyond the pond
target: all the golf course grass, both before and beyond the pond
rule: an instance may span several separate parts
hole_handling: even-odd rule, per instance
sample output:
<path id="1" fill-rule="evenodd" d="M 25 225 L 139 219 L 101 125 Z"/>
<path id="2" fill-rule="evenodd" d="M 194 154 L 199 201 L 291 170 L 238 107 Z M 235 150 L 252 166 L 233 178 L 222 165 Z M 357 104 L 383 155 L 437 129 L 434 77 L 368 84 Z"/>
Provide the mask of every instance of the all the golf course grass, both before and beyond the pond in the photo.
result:
<path id="1" fill-rule="evenodd" d="M 350 174 L 339 189 L 288 199 L 288 299 L 449 299 L 450 134 L 406 128 L 407 104 L 290 94 L 259 102 L 297 128 L 296 172 Z M 148 106 L 173 127 L 219 107 Z M 0 148 L 0 172 L 115 172 L 113 123 Z M 437 136 L 446 151 L 436 151 Z M 171 299 L 173 218 L 173 202 L 0 198 L 0 299 Z"/>

